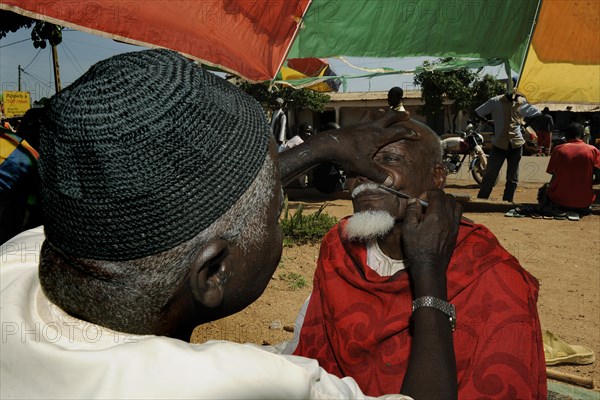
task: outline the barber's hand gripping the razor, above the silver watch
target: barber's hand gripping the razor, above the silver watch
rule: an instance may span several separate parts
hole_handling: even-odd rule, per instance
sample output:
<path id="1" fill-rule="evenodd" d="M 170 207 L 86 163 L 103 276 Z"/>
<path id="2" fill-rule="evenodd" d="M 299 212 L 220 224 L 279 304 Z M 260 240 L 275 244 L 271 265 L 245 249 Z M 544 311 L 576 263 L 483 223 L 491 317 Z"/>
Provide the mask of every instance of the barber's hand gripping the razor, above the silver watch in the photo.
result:
<path id="1" fill-rule="evenodd" d="M 427 199 L 426 210 L 418 201 L 406 206 L 402 223 L 403 253 L 415 290 L 436 292 L 416 295 L 445 298 L 446 269 L 456 245 L 462 207 L 454 196 L 439 189 L 427 192 Z M 442 290 L 443 294 L 437 293 Z"/>

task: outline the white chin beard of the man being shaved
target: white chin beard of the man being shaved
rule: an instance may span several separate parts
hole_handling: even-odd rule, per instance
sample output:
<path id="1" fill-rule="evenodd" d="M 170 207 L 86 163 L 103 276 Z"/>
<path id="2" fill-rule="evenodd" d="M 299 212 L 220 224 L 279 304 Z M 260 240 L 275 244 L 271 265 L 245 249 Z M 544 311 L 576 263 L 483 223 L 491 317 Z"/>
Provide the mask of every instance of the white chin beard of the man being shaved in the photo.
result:
<path id="1" fill-rule="evenodd" d="M 387 211 L 361 211 L 348 218 L 344 229 L 344 238 L 350 241 L 366 242 L 385 237 L 395 223 L 394 217 Z"/>

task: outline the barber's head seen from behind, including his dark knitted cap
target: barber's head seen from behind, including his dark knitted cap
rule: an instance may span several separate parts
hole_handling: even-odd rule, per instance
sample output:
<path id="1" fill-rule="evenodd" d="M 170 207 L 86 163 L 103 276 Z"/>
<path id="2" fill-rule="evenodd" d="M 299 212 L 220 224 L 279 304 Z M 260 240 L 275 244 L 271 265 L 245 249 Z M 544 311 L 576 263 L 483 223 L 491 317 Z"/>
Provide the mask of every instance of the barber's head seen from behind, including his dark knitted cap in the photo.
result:
<path id="1" fill-rule="evenodd" d="M 177 337 L 246 307 L 281 255 L 269 137 L 254 99 L 174 52 L 94 65 L 41 130 L 46 295 L 109 328 Z"/>

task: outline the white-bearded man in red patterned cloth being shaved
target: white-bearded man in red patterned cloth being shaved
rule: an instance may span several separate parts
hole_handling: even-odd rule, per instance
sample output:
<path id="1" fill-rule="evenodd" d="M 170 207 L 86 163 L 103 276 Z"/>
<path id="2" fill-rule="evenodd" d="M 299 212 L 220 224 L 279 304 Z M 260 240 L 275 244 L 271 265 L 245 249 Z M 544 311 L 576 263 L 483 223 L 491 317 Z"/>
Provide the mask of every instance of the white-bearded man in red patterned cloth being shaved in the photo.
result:
<path id="1" fill-rule="evenodd" d="M 403 125 L 410 134 L 379 150 L 374 161 L 394 176 L 393 188 L 426 198 L 445 183 L 440 140 L 416 121 Z M 419 288 L 411 270 L 424 262 L 405 250 L 426 246 L 429 237 L 404 232 L 406 200 L 360 175 L 349 174 L 347 182 L 355 214 L 323 239 L 293 354 L 353 377 L 376 396 L 402 383 L 416 340 L 411 315 Z M 461 221 L 447 287 L 437 297 L 440 308 L 446 301 L 456 307 L 458 397 L 546 399 L 537 280 L 487 228 Z"/>

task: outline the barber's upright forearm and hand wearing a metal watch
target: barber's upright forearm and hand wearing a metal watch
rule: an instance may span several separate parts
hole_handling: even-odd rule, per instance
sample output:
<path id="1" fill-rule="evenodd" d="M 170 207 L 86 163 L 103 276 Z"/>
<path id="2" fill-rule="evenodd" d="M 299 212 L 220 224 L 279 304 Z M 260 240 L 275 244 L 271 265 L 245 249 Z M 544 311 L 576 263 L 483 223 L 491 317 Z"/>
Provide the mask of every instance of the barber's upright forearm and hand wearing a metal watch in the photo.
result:
<path id="1" fill-rule="evenodd" d="M 454 252 L 462 208 L 441 190 L 428 192 L 429 206 L 409 203 L 402 224 L 403 251 L 414 298 L 448 300 L 446 269 Z M 436 302 L 437 303 L 437 302 Z M 430 306 L 413 311 L 413 339 L 401 393 L 414 399 L 455 399 L 456 360 L 450 317 Z"/>

